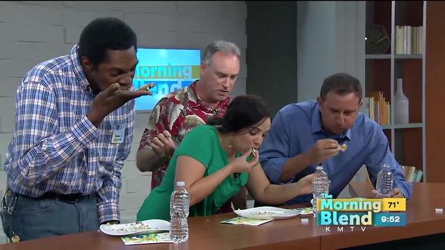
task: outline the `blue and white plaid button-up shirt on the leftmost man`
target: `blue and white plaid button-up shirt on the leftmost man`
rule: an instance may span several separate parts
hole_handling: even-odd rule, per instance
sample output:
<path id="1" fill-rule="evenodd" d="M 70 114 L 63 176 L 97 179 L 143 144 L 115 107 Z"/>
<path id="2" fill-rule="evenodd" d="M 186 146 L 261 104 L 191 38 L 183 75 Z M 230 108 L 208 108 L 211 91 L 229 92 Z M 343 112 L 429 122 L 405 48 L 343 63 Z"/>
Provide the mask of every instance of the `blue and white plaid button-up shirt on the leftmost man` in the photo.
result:
<path id="1" fill-rule="evenodd" d="M 133 140 L 134 101 L 96 128 L 86 117 L 93 99 L 76 45 L 69 55 L 40 63 L 24 76 L 4 163 L 8 188 L 29 197 L 97 192 L 99 221 L 119 220 L 121 168 Z M 111 143 L 115 130 L 124 131 L 120 144 Z"/>

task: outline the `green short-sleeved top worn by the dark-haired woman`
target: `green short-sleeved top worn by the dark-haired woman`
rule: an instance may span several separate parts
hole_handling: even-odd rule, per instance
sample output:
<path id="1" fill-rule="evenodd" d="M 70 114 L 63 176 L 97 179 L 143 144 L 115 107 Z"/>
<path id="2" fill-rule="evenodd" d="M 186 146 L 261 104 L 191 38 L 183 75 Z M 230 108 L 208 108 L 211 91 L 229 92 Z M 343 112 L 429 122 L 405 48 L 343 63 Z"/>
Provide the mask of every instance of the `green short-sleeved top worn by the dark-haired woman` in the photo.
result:
<path id="1" fill-rule="evenodd" d="M 216 128 L 198 125 L 184 136 L 170 160 L 161 185 L 154 188 L 140 207 L 137 220 L 165 219 L 170 221 L 170 194 L 175 188 L 175 170 L 178 156 L 190 156 L 206 168 L 204 177 L 217 172 L 229 163 L 221 147 Z M 239 155 L 237 155 L 239 156 Z M 248 159 L 249 160 L 249 159 Z M 208 216 L 216 213 L 220 206 L 233 197 L 248 181 L 248 173 L 238 177 L 227 176 L 211 194 L 190 207 L 190 217 Z"/>

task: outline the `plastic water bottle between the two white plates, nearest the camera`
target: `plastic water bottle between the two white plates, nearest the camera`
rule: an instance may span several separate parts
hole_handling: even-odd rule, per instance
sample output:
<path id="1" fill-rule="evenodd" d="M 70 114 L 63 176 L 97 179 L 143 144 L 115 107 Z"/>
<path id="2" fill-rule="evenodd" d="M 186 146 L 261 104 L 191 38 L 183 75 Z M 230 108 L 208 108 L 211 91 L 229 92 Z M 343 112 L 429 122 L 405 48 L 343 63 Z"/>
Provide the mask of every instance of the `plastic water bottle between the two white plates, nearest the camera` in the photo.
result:
<path id="1" fill-rule="evenodd" d="M 182 243 L 188 240 L 188 210 L 190 200 L 184 181 L 178 181 L 170 196 L 170 240 Z"/>

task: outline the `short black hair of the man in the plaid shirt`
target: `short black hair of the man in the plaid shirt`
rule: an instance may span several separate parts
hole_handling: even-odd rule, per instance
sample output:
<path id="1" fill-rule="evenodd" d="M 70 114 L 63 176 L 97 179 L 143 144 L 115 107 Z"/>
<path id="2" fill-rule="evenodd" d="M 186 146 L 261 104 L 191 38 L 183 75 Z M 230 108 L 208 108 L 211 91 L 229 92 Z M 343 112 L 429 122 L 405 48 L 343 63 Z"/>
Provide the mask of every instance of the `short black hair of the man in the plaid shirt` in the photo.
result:
<path id="1" fill-rule="evenodd" d="M 83 28 L 78 45 L 79 58 L 86 56 L 94 66 L 104 62 L 107 50 L 138 49 L 136 33 L 114 17 L 101 17 L 90 22 Z"/>

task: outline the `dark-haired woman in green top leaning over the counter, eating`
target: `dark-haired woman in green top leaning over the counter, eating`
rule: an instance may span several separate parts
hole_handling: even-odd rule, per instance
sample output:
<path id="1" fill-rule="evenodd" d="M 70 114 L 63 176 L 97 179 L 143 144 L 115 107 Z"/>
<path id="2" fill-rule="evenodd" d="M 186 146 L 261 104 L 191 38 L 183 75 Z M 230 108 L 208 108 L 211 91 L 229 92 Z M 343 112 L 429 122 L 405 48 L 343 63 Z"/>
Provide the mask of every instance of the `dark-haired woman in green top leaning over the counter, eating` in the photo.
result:
<path id="1" fill-rule="evenodd" d="M 242 186 L 262 203 L 280 204 L 312 192 L 312 177 L 297 183 L 270 184 L 259 164 L 257 149 L 270 128 L 270 115 L 259 97 L 234 98 L 222 118 L 209 119 L 186 134 L 170 160 L 161 185 L 138 211 L 138 221 L 170 220 L 170 194 L 185 181 L 190 217 L 216 213 Z"/>

